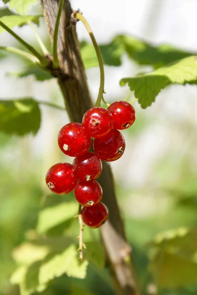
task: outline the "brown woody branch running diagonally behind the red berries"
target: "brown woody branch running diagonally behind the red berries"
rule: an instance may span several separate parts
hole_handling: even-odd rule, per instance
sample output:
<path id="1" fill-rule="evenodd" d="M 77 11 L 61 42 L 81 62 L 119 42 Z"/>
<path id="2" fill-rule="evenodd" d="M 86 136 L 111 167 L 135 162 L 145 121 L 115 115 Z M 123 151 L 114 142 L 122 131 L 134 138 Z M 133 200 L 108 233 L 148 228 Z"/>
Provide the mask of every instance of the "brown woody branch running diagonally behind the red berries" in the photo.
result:
<path id="1" fill-rule="evenodd" d="M 42 5 L 44 18 L 53 42 L 59 0 L 42 0 Z M 58 33 L 58 58 L 64 74 L 58 77 L 58 84 L 70 120 L 81 122 L 84 113 L 92 107 L 92 101 L 76 29 L 68 28 L 71 13 L 70 3 L 65 0 Z M 109 208 L 109 221 L 101 228 L 107 261 L 111 267 L 117 294 L 132 295 L 136 293 L 136 287 L 129 262 L 131 247 L 127 243 L 124 233 L 114 192 L 112 171 L 106 162 L 103 163 L 103 172 L 99 182 L 103 188 L 103 202 Z"/>

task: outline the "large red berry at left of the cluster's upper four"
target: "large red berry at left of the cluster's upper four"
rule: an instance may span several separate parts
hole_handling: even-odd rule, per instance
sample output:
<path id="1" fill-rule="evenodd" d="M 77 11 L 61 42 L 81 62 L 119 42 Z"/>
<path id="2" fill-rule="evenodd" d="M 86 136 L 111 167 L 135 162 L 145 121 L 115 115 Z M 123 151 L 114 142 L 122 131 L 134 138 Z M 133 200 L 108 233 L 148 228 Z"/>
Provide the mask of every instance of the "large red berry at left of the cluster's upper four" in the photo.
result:
<path id="1" fill-rule="evenodd" d="M 69 123 L 61 128 L 58 134 L 58 145 L 67 156 L 83 155 L 91 145 L 91 137 L 80 123 Z"/>

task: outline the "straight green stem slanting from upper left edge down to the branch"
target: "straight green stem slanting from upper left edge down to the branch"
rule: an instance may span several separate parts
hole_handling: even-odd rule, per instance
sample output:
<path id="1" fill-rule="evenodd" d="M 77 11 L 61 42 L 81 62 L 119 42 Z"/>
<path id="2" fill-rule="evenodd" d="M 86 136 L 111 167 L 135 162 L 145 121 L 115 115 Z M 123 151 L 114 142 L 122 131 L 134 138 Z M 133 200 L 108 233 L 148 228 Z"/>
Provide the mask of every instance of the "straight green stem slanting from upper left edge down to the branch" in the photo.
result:
<path id="1" fill-rule="evenodd" d="M 49 60 L 45 57 L 41 56 L 37 50 L 35 50 L 34 47 L 29 45 L 26 41 L 24 41 L 19 35 L 17 35 L 12 29 L 7 27 L 3 22 L 0 21 L 0 26 L 5 29 L 8 33 L 10 33 L 17 41 L 19 41 L 22 45 L 24 45 L 37 59 L 40 60 L 40 63 L 43 66 L 47 66 L 49 64 Z"/>

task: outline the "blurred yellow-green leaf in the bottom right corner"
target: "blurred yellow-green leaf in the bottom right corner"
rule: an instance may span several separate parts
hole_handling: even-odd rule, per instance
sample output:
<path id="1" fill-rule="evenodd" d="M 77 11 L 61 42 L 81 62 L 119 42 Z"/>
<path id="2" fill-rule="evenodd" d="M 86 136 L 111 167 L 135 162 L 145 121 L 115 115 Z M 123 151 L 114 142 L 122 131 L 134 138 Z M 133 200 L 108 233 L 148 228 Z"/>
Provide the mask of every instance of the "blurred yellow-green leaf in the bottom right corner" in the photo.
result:
<path id="1" fill-rule="evenodd" d="M 197 283 L 197 228 L 161 233 L 151 245 L 151 270 L 158 288 Z"/>

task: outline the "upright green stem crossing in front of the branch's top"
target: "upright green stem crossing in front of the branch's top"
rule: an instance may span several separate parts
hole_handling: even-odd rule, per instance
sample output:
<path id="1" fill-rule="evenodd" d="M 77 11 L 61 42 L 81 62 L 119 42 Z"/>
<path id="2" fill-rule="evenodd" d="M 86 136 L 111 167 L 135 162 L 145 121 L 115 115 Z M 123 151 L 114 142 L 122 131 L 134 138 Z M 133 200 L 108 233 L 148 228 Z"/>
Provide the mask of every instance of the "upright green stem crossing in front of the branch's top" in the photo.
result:
<path id="1" fill-rule="evenodd" d="M 54 67 L 55 68 L 59 66 L 59 60 L 58 60 L 58 56 L 57 56 L 57 37 L 58 37 L 59 22 L 60 22 L 60 18 L 61 18 L 61 11 L 63 8 L 63 3 L 64 3 L 64 0 L 59 1 L 59 9 L 57 12 L 56 25 L 55 25 L 55 29 L 54 29 L 53 57 L 54 57 Z"/>

